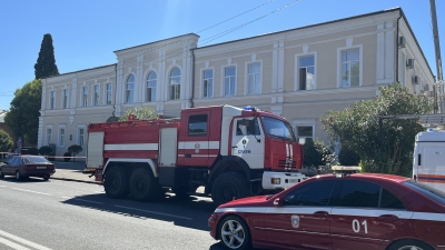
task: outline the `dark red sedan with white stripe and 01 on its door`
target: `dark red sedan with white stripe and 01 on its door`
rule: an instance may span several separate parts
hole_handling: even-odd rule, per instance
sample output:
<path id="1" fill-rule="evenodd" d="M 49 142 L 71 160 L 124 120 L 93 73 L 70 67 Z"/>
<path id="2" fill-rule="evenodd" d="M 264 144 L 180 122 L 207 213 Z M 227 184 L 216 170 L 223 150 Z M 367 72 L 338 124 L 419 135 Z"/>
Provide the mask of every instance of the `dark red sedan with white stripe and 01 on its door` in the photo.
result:
<path id="1" fill-rule="evenodd" d="M 445 250 L 445 192 L 398 176 L 325 174 L 221 204 L 208 222 L 237 250 Z"/>

